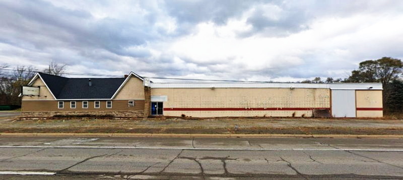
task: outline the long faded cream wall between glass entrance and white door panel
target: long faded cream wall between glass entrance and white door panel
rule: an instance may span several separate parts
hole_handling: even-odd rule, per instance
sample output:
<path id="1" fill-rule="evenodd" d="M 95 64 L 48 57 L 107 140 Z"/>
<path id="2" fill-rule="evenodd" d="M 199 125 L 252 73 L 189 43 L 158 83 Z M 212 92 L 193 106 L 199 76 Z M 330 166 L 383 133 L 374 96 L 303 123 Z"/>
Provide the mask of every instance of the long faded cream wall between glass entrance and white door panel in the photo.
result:
<path id="1" fill-rule="evenodd" d="M 325 88 L 152 88 L 152 96 L 168 96 L 165 116 L 312 116 L 312 111 L 169 111 L 169 108 L 330 108 Z"/>

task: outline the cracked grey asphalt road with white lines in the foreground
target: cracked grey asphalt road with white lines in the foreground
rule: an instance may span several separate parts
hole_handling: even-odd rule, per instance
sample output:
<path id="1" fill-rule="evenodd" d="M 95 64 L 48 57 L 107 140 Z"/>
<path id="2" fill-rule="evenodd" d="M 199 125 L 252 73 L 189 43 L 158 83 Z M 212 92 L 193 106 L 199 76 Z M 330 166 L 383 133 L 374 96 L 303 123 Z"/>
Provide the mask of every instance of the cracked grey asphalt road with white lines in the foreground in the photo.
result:
<path id="1" fill-rule="evenodd" d="M 403 139 L 0 137 L 0 174 L 7 179 L 401 179 Z"/>

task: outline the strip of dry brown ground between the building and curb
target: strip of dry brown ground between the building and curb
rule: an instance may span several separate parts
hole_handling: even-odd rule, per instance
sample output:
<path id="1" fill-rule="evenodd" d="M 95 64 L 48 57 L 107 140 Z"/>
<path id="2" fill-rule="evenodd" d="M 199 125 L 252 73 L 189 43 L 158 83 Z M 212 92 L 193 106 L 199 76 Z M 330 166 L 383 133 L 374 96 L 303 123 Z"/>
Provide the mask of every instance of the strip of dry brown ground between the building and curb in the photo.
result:
<path id="1" fill-rule="evenodd" d="M 403 134 L 403 120 L 177 118 L 2 120 L 3 133 Z"/>

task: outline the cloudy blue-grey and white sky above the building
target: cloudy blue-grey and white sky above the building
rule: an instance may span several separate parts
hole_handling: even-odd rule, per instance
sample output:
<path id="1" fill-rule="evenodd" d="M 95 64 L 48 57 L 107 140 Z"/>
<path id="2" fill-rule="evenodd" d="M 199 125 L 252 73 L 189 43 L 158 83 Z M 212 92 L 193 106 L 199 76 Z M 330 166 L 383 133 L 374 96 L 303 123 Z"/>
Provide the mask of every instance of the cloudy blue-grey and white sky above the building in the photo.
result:
<path id="1" fill-rule="evenodd" d="M 403 59 L 403 1 L 5 1 L 0 63 L 297 81 Z"/>

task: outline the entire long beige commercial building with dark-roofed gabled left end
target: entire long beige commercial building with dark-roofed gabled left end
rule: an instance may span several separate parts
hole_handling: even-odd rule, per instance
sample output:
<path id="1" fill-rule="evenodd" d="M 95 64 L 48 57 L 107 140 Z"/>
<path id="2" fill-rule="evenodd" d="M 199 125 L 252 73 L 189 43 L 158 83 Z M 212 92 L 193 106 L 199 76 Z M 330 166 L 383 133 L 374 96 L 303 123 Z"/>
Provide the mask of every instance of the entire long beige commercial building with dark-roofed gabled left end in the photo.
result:
<path id="1" fill-rule="evenodd" d="M 154 83 L 131 72 L 122 78 L 37 73 L 27 86 L 33 93 L 22 94 L 26 116 L 383 116 L 380 83 Z"/>

